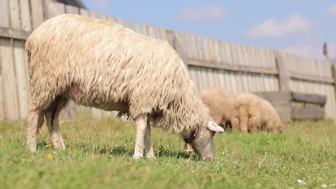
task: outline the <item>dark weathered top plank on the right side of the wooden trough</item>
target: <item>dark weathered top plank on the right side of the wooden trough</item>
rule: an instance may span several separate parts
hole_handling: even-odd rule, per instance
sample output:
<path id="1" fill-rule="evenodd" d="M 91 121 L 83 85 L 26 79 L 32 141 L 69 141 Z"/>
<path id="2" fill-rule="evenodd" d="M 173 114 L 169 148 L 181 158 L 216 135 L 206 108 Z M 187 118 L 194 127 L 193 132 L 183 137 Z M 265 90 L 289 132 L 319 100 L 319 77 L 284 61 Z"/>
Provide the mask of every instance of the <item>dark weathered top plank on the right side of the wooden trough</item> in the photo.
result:
<path id="1" fill-rule="evenodd" d="M 292 99 L 294 102 L 311 103 L 318 105 L 325 105 L 327 96 L 318 94 L 305 94 L 300 92 L 292 92 Z"/>

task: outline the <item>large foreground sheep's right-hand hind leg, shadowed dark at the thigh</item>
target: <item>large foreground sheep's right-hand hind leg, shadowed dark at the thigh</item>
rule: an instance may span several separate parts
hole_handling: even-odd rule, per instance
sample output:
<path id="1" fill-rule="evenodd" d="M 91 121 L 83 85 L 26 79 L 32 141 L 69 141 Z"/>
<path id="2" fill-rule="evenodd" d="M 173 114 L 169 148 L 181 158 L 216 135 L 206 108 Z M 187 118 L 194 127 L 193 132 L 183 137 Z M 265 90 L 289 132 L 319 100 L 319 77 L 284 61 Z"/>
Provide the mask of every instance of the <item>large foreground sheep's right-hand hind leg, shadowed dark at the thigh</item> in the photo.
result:
<path id="1" fill-rule="evenodd" d="M 64 99 L 56 99 L 50 108 L 46 112 L 46 120 L 49 133 L 51 135 L 52 143 L 56 149 L 65 149 L 64 141 L 59 128 L 58 116 L 63 107 L 65 107 L 66 101 Z"/>

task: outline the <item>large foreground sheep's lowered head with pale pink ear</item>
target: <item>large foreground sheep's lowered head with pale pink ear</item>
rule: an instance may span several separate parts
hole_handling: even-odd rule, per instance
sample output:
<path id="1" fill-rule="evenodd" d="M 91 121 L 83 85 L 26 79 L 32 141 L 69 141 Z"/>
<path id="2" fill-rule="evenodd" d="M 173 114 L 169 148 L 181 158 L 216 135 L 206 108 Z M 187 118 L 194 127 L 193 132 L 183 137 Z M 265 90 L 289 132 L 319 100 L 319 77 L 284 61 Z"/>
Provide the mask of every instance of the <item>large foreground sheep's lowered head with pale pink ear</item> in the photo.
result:
<path id="1" fill-rule="evenodd" d="M 201 160 L 213 160 L 214 135 L 216 132 L 224 132 L 224 129 L 213 121 L 208 121 L 206 127 L 198 127 L 190 136 L 184 138 L 186 143 L 191 143 L 196 155 Z"/>

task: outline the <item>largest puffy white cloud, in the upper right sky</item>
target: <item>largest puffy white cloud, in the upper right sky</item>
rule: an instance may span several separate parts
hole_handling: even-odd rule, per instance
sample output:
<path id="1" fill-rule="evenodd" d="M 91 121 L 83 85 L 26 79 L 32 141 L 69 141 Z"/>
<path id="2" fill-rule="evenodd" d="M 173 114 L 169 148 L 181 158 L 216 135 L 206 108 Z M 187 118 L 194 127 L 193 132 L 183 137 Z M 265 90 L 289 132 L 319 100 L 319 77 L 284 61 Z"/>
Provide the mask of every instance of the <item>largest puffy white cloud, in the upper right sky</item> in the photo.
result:
<path id="1" fill-rule="evenodd" d="M 315 21 L 308 20 L 300 14 L 292 14 L 286 20 L 279 21 L 270 18 L 247 30 L 245 36 L 249 39 L 280 38 L 292 34 L 308 34 Z"/>

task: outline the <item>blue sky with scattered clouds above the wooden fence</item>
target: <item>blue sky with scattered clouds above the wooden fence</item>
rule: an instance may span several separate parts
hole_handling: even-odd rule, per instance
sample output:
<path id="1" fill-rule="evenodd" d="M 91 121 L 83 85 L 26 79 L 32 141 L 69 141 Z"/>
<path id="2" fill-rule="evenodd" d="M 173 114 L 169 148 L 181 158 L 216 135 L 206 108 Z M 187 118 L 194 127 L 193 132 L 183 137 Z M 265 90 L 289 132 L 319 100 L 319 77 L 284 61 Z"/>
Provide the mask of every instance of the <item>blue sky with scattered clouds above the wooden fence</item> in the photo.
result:
<path id="1" fill-rule="evenodd" d="M 291 54 L 336 59 L 336 0 L 82 0 L 90 11 Z"/>

